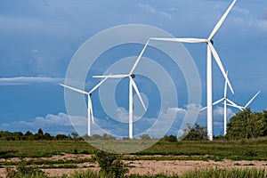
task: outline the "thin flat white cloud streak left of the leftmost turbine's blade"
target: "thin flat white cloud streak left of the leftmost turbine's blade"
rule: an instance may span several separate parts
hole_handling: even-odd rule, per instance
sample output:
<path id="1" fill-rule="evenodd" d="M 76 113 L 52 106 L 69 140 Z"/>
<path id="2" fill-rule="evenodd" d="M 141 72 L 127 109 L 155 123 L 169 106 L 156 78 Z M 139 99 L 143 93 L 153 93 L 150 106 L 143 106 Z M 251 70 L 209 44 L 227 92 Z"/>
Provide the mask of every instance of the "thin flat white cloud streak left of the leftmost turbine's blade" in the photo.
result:
<path id="1" fill-rule="evenodd" d="M 54 83 L 64 81 L 61 77 L 3 77 L 0 78 L 0 85 L 30 85 L 33 83 Z"/>

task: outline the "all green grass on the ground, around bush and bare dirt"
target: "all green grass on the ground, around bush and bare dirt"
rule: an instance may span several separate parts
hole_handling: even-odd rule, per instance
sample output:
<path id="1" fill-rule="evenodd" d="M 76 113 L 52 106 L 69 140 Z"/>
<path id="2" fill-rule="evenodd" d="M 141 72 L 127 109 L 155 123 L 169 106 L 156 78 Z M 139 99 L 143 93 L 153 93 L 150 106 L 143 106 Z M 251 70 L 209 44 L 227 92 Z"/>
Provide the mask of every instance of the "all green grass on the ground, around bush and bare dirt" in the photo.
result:
<path id="1" fill-rule="evenodd" d="M 154 142 L 154 141 L 150 141 Z M 116 150 L 117 148 L 130 149 L 140 145 L 146 147 L 146 144 L 150 144 L 147 141 L 133 140 L 133 141 L 91 141 L 93 145 L 99 146 L 101 144 L 110 148 L 110 150 Z M 100 144 L 100 145 L 98 145 Z M 7 167 L 18 166 L 34 166 L 47 169 L 72 169 L 79 170 L 80 166 L 83 166 L 87 171 L 76 172 L 69 174 L 68 177 L 102 177 L 97 172 L 92 172 L 92 168 L 97 168 L 93 165 L 90 154 L 93 154 L 96 149 L 90 144 L 83 141 L 1 141 L 0 142 L 0 168 L 5 169 Z M 128 150 L 129 151 L 129 150 Z M 50 158 L 53 155 L 64 154 L 71 155 L 70 158 Z M 85 155 L 86 157 L 81 156 Z M 88 156 L 87 156 L 88 155 Z M 59 157 L 57 156 L 57 157 Z M 72 157 L 73 156 L 73 157 Z M 6 158 L 15 158 L 12 161 L 7 161 Z M 208 160 L 218 161 L 216 163 L 224 164 L 225 159 L 230 160 L 247 160 L 246 164 L 240 164 L 241 161 L 235 162 L 235 169 L 214 168 L 207 166 L 206 169 L 200 169 L 196 171 L 190 171 L 188 174 L 173 176 L 166 174 L 159 175 L 139 175 L 131 174 L 128 177 L 267 177 L 266 174 L 266 160 L 267 160 L 267 137 L 259 138 L 255 140 L 242 140 L 242 141 L 214 141 L 214 142 L 157 142 L 149 149 L 142 150 L 136 153 L 127 154 L 123 157 L 128 163 L 134 161 L 146 161 L 160 162 L 171 160 L 171 164 L 174 165 L 173 160 L 199 160 L 209 163 Z M 11 160 L 11 159 L 10 159 Z M 260 167 L 252 164 L 252 160 L 263 160 Z M 222 161 L 222 162 L 221 162 Z M 254 162 L 255 163 L 255 162 Z M 137 163 L 136 163 L 137 164 Z M 136 166 L 135 164 L 135 166 Z M 165 165 L 166 162 L 163 163 Z M 239 165 L 238 165 L 239 164 Z M 129 165 L 131 168 L 133 165 Z M 134 168 L 133 166 L 132 168 Z M 240 168 L 239 168 L 240 167 Z M 243 167 L 243 168 L 241 168 Z M 244 167 L 247 167 L 244 169 Z M 95 169 L 94 169 L 95 170 Z M 11 172 L 14 174 L 14 172 Z M 3 172 L 2 172 L 3 174 Z M 243 176 L 244 175 L 244 176 Z M 246 176 L 245 176 L 246 175 Z M 1 177 L 1 173 L 0 173 Z M 10 176 L 12 177 L 12 176 Z M 21 175 L 19 177 L 30 177 L 28 175 Z M 32 175 L 31 177 L 36 177 Z M 41 175 L 39 177 L 47 177 Z M 59 176 L 61 177 L 61 176 Z M 67 177 L 67 176 L 62 176 Z"/>

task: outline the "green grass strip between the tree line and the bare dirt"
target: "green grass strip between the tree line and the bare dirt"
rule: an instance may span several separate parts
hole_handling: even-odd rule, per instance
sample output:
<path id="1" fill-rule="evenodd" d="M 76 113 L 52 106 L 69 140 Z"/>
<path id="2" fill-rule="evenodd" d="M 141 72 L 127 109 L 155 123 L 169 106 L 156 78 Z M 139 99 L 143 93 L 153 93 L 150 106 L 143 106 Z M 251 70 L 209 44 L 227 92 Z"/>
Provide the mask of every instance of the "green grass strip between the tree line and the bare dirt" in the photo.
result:
<path id="1" fill-rule="evenodd" d="M 114 146 L 114 142 L 111 143 Z M 109 141 L 101 142 L 105 145 L 111 145 L 111 143 Z M 118 141 L 111 150 L 138 143 L 140 141 Z M 82 141 L 2 141 L 0 145 L 0 158 L 41 158 L 61 153 L 92 154 L 95 150 L 93 146 Z M 232 142 L 157 142 L 149 149 L 133 155 L 136 156 L 131 157 L 133 159 L 150 158 L 142 157 L 143 155 L 163 155 L 184 156 L 173 158 L 189 160 L 267 160 L 267 138 Z M 159 158 L 172 159 L 172 157 Z"/>

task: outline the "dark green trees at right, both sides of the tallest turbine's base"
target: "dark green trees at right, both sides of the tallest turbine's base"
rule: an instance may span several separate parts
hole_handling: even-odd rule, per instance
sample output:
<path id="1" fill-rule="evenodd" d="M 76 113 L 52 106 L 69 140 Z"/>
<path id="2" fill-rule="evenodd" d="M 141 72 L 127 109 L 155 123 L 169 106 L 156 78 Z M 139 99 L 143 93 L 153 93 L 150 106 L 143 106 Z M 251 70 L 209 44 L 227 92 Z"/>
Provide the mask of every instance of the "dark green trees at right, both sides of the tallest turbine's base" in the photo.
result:
<path id="1" fill-rule="evenodd" d="M 227 134 L 214 136 L 214 140 L 241 140 L 267 136 L 267 110 L 252 112 L 244 109 L 230 118 Z M 183 131 L 183 141 L 207 141 L 206 127 L 188 125 Z"/>

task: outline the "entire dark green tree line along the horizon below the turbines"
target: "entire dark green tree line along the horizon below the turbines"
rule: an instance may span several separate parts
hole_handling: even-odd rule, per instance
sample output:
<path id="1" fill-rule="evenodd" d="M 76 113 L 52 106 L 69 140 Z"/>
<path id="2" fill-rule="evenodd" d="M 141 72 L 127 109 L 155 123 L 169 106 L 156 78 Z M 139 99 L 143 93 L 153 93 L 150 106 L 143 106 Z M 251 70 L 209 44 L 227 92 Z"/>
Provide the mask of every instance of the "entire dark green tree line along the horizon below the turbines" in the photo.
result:
<path id="1" fill-rule="evenodd" d="M 267 110 L 263 112 L 252 112 L 250 109 L 244 109 L 238 112 L 234 117 L 231 117 L 227 124 L 227 134 L 225 136 L 214 136 L 214 140 L 226 139 L 226 140 L 240 140 L 250 139 L 257 137 L 267 136 Z M 129 138 L 123 138 L 122 140 L 128 140 Z M 150 140 L 149 134 L 140 135 L 141 140 Z M 8 132 L 0 131 L 0 141 L 78 141 L 78 140 L 102 140 L 102 141 L 115 141 L 116 137 L 110 134 L 93 134 L 79 136 L 76 132 L 72 132 L 69 135 L 57 134 L 53 136 L 49 133 L 44 133 L 40 128 L 36 134 L 27 131 L 25 134 L 21 132 Z M 183 130 L 183 135 L 178 138 L 175 135 L 165 135 L 160 141 L 163 142 L 177 142 L 182 141 L 207 141 L 207 131 L 205 126 L 200 126 L 197 123 L 195 125 L 188 125 L 187 129 Z"/>

